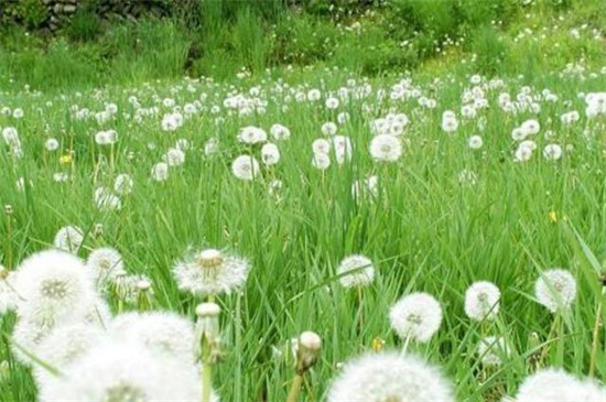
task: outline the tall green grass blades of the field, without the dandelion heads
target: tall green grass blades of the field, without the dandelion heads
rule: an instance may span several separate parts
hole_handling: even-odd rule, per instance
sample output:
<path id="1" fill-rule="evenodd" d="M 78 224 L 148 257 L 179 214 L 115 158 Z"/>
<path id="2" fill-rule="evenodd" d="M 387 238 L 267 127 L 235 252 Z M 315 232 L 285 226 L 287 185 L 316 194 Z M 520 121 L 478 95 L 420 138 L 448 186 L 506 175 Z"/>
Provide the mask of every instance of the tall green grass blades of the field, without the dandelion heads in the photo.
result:
<path id="1" fill-rule="evenodd" d="M 318 85 L 325 91 L 345 85 L 339 73 L 315 74 L 309 82 L 322 83 Z M 432 88 L 440 111 L 456 109 L 461 90 L 468 85 L 464 75 L 444 78 L 448 85 L 432 86 L 433 77 L 419 83 L 422 88 Z M 577 90 L 606 85 L 603 76 L 571 82 L 545 74 L 543 79 L 564 99 L 576 99 Z M 374 84 L 377 89 L 394 83 Z M 210 83 L 197 86 L 197 91 L 191 94 L 183 89 L 186 84 L 178 83 L 176 87 L 182 89 L 176 91 L 171 90 L 175 86 L 148 86 L 139 88 L 138 96 L 145 102 L 152 102 L 152 96 L 158 95 L 183 104 L 205 93 L 208 105 L 215 105 L 221 104 L 231 90 L 231 83 Z M 241 89 L 253 84 L 234 83 Z M 508 85 L 512 91 L 521 86 L 516 80 Z M 548 163 L 538 154 L 527 164 L 517 164 L 511 162 L 509 130 L 519 123 L 518 118 L 504 116 L 498 108 L 487 110 L 485 149 L 473 152 L 466 139 L 475 126 L 465 122 L 448 137 L 439 130 L 441 112 L 435 111 L 423 117 L 411 115 L 411 143 L 403 160 L 397 165 L 379 166 L 367 152 L 368 120 L 360 111 L 360 100 L 347 106 L 351 120 L 342 126 L 354 142 L 351 163 L 335 165 L 322 174 L 311 166 L 310 146 L 320 137 L 320 124 L 334 119 L 334 112 L 309 104 L 293 104 L 284 112 L 281 98 L 270 95 L 271 83 L 262 88 L 262 96 L 270 99 L 266 115 L 238 118 L 226 113 L 220 126 L 201 115 L 170 134 L 160 132 L 155 120 L 141 126 L 121 117 L 112 121 L 120 133 L 116 171 L 105 171 L 97 185 L 111 186 L 118 172 L 128 173 L 136 181 L 134 193 L 117 213 L 100 213 L 91 203 L 90 174 L 99 150 L 88 130 L 96 130 L 96 126 L 65 120 L 66 108 L 76 100 L 62 102 L 52 96 L 15 95 L 10 105 L 23 107 L 26 118 L 13 121 L 1 117 L 0 126 L 19 128 L 28 154 L 21 161 L 4 152 L 0 154 L 6 172 L 6 180 L 0 182 L 0 204 L 10 204 L 14 209 L 10 218 L 12 231 L 7 231 L 7 217 L 0 226 L 0 237 L 6 239 L 0 254 L 6 258 L 10 249 L 14 256 L 10 268 L 14 268 L 25 256 L 47 247 L 59 227 L 76 224 L 90 231 L 101 222 L 104 236 L 89 238 L 82 256 L 98 246 L 117 247 L 130 272 L 144 273 L 153 280 L 154 308 L 177 311 L 190 317 L 194 317 L 199 301 L 177 291 L 170 272 L 173 261 L 188 245 L 226 247 L 246 256 L 253 267 L 246 290 L 219 298 L 228 352 L 216 368 L 215 384 L 226 401 L 234 401 L 236 394 L 241 401 L 255 401 L 260 392 L 267 393 L 267 400 L 284 400 L 292 362 L 288 343 L 304 329 L 314 329 L 324 338 L 323 357 L 305 390 L 310 399 L 322 400 L 329 379 L 338 372 L 338 363 L 369 350 L 375 338 L 385 339 L 386 347 L 401 347 L 389 328 L 387 312 L 398 297 L 411 291 L 432 293 L 442 303 L 445 322 L 441 332 L 429 345 L 412 349 L 444 367 L 456 384 L 459 400 L 479 400 L 497 384 L 515 392 L 530 371 L 532 334 L 544 340 L 551 324 L 551 317 L 532 301 L 534 279 L 545 268 L 570 268 L 580 292 L 571 327 L 562 340 L 564 358 L 559 360 L 551 350 L 547 361 L 563 365 L 577 374 L 586 373 L 594 303 L 599 295 L 574 262 L 575 248 L 566 235 L 564 217 L 574 222 L 591 249 L 605 256 L 604 177 L 597 169 L 603 163 L 599 139 L 591 142 L 595 146 L 587 146 L 588 140 L 574 131 L 581 127 L 565 131 L 559 126 L 561 107 L 545 107 L 540 120 L 551 118 L 562 132 L 562 143 L 574 145 L 575 151 L 559 163 Z M 95 109 L 112 101 L 128 112 L 127 97 L 129 89 L 134 88 L 125 89 L 109 90 L 100 98 L 85 93 L 77 102 Z M 54 105 L 37 116 L 36 108 L 46 100 Z M 405 112 L 413 109 L 410 104 L 396 106 Z M 574 100 L 573 107 L 581 108 L 582 101 Z M 44 122 L 52 124 L 50 135 L 64 144 L 63 153 L 72 142 L 78 146 L 73 166 L 59 165 L 58 155 L 36 156 L 34 150 L 41 150 L 43 143 L 37 128 Z M 62 131 L 65 122 L 67 130 Z M 288 126 L 293 133 L 289 142 L 280 144 L 283 161 L 263 180 L 237 182 L 229 163 L 246 150 L 235 141 L 236 133 L 246 124 L 268 128 L 274 122 Z M 220 139 L 223 151 L 217 157 L 204 157 L 201 149 L 214 135 Z M 190 140 L 194 146 L 187 152 L 185 166 L 171 171 L 165 183 L 151 182 L 151 165 L 177 138 Z M 154 142 L 156 149 L 149 150 L 149 142 Z M 129 152 L 133 152 L 133 159 L 127 159 Z M 476 186 L 459 184 L 458 173 L 464 169 L 477 173 Z M 52 173 L 58 170 L 72 171 L 72 180 L 64 184 L 52 182 Z M 374 173 L 380 176 L 379 198 L 356 203 L 353 181 Z M 284 184 L 279 199 L 267 194 L 266 185 L 272 175 Z M 21 176 L 34 183 L 24 193 L 14 187 Z M 550 219 L 550 213 L 556 214 L 558 221 Z M 355 252 L 370 257 L 378 271 L 376 282 L 365 292 L 361 328 L 354 308 L 357 295 L 342 289 L 335 273 L 340 259 Z M 502 313 L 491 330 L 515 347 L 512 357 L 485 380 L 475 376 L 479 367 L 476 345 L 484 329 L 463 314 L 463 293 L 477 280 L 493 281 L 501 289 Z M 238 306 L 241 327 L 236 327 L 234 320 Z M 12 320 L 2 320 L 2 329 L 8 332 Z M 238 332 L 241 338 L 236 336 Z M 7 401 L 32 400 L 34 389 L 28 371 L 12 362 L 8 350 L 3 339 L 0 356 L 10 361 L 12 370 L 10 381 L 0 385 L 0 396 Z M 606 376 L 605 357 L 600 347 L 596 366 L 599 378 Z M 234 381 L 236 370 L 242 373 L 241 382 Z"/>

